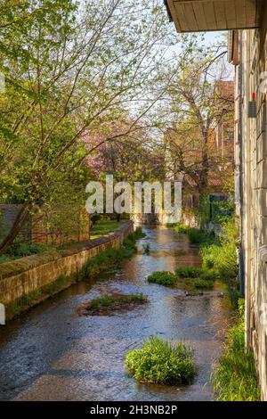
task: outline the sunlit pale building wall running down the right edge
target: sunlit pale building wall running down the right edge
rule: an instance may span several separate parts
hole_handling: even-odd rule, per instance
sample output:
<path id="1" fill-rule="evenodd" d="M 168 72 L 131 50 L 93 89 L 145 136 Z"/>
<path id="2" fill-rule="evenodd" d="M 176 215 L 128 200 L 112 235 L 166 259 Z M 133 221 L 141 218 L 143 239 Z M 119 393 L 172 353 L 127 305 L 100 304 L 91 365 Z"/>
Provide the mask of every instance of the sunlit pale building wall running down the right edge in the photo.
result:
<path id="1" fill-rule="evenodd" d="M 267 7 L 265 7 L 267 9 Z M 261 29 L 239 31 L 236 67 L 236 190 L 241 231 L 241 274 L 246 295 L 246 341 L 267 400 L 267 136 L 266 91 L 260 76 L 267 71 L 267 11 Z M 248 118 L 248 101 L 256 97 L 256 118 Z"/>

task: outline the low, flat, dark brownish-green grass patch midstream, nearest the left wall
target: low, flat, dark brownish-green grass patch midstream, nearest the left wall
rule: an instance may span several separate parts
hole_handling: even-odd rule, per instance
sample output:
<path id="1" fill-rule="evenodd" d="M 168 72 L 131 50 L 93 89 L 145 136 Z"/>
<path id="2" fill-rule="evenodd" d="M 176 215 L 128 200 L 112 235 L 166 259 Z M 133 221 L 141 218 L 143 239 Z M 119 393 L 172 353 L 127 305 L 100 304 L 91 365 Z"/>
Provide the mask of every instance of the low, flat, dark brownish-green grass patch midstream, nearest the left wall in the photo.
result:
<path id="1" fill-rule="evenodd" d="M 101 297 L 90 301 L 86 307 L 89 311 L 99 311 L 103 309 L 123 308 L 128 304 L 142 304 L 147 302 L 147 297 L 142 293 L 130 295 L 102 295 Z"/>

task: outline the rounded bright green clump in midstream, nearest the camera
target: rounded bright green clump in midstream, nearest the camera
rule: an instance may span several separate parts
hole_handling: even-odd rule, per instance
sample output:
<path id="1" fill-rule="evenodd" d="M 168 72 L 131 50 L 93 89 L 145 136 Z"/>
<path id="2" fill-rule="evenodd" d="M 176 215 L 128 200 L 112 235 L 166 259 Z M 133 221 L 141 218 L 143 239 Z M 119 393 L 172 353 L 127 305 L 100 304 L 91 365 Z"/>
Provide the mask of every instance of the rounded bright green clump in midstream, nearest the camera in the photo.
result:
<path id="1" fill-rule="evenodd" d="M 128 351 L 125 366 L 139 382 L 189 384 L 197 374 L 190 346 L 182 342 L 172 345 L 157 337 Z"/>

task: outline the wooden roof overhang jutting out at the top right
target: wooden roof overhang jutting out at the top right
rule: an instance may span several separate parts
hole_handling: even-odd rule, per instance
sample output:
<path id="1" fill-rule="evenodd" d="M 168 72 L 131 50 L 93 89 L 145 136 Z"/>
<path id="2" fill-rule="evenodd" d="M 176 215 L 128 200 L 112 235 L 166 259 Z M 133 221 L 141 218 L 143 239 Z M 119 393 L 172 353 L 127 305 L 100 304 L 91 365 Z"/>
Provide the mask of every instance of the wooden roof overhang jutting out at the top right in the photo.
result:
<path id="1" fill-rule="evenodd" d="M 265 0 L 165 0 L 178 32 L 259 28 Z"/>

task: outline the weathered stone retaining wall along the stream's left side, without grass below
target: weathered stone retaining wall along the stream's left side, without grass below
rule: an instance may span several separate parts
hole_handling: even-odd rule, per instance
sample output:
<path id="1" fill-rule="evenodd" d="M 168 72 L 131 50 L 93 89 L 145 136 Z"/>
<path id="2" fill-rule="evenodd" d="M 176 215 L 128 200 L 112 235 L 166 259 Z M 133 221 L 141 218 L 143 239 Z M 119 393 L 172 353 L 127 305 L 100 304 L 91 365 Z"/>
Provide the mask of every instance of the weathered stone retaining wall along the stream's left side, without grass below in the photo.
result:
<path id="1" fill-rule="evenodd" d="M 133 231 L 133 221 L 127 221 L 108 237 L 78 243 L 68 250 L 44 252 L 1 264 L 0 303 L 7 305 L 53 283 L 60 275 L 77 273 L 88 259 L 101 251 L 119 248 Z"/>

